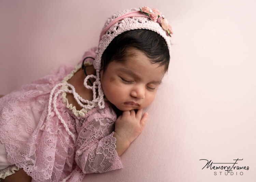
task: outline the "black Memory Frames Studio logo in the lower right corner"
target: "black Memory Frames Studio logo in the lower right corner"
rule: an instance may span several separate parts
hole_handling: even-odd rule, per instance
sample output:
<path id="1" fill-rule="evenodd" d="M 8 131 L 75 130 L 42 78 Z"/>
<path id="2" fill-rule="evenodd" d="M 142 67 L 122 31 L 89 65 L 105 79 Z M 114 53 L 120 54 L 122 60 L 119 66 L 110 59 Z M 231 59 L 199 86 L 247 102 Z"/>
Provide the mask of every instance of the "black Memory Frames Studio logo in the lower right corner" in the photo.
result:
<path id="1" fill-rule="evenodd" d="M 233 163 L 213 163 L 212 160 L 208 161 L 207 159 L 200 159 L 199 161 L 205 161 L 205 166 L 202 169 L 210 168 L 213 170 L 213 174 L 224 176 L 224 175 L 235 175 L 242 176 L 246 170 L 249 170 L 249 166 L 239 166 L 238 161 L 242 161 L 243 159 L 233 159 Z"/>

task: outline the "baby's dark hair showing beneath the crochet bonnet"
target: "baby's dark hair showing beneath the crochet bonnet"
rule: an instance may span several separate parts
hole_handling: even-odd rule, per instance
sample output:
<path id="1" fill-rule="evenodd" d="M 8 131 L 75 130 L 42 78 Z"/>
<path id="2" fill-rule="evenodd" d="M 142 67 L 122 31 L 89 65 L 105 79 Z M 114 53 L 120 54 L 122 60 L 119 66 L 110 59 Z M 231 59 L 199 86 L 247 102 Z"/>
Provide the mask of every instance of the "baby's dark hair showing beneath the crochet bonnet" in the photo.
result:
<path id="1" fill-rule="evenodd" d="M 165 39 L 154 31 L 136 29 L 123 32 L 110 42 L 101 57 L 103 72 L 111 61 L 123 61 L 127 48 L 139 49 L 152 63 L 164 65 L 165 72 L 168 70 L 170 54 Z"/>

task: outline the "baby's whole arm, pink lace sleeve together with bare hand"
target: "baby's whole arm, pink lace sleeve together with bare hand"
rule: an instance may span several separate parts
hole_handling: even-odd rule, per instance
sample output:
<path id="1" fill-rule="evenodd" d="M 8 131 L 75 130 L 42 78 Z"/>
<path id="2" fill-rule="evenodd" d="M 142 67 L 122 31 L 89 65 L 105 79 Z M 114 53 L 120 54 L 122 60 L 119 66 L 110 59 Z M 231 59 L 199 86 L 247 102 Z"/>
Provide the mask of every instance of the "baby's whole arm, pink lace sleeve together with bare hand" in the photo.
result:
<path id="1" fill-rule="evenodd" d="M 116 122 L 109 118 L 95 118 L 84 122 L 78 133 L 75 161 L 86 173 L 106 172 L 122 168 L 119 156 L 141 133 L 147 113 L 142 116 L 142 109 L 124 111 Z M 114 131 L 115 127 L 115 131 Z M 109 134 L 110 133 L 110 134 Z"/>

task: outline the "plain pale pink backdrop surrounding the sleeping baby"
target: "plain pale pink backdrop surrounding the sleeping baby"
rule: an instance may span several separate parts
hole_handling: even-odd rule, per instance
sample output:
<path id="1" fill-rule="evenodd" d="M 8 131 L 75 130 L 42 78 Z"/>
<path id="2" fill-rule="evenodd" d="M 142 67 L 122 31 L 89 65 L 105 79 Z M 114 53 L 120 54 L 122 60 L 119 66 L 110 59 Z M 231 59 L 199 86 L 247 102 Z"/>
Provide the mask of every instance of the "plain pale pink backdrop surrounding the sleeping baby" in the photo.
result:
<path id="1" fill-rule="evenodd" d="M 76 65 L 97 45 L 107 17 L 143 5 L 158 8 L 172 25 L 169 73 L 146 108 L 143 132 L 121 156 L 124 168 L 87 174 L 84 182 L 256 181 L 254 1 L 2 0 L 0 94 L 62 62 Z M 199 161 L 238 158 L 235 166 L 249 170 L 227 176 Z"/>

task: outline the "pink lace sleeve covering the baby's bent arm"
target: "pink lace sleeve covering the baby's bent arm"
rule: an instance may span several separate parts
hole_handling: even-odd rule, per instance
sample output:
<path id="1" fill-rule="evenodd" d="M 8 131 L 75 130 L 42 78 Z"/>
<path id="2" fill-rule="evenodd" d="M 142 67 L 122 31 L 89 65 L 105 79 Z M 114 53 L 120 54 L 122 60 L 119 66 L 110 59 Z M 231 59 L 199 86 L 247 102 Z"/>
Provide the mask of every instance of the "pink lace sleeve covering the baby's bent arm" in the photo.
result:
<path id="1" fill-rule="evenodd" d="M 86 173 L 123 168 L 115 150 L 114 122 L 108 118 L 93 119 L 77 137 L 77 165 Z"/>

